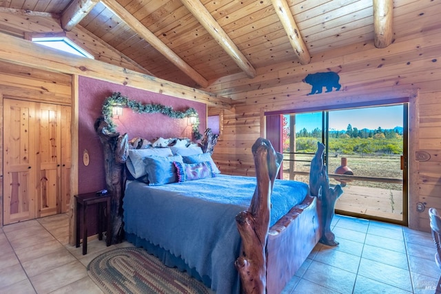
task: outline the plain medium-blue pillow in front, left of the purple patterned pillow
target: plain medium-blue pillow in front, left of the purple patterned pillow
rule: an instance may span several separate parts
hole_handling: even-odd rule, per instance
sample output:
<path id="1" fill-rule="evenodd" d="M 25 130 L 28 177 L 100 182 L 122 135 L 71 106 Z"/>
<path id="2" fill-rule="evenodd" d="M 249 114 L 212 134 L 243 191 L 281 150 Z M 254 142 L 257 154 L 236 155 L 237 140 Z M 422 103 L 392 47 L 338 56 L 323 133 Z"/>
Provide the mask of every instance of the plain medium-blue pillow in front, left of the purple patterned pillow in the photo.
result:
<path id="1" fill-rule="evenodd" d="M 182 156 L 147 156 L 143 160 L 149 178 L 149 186 L 165 185 L 178 181 L 178 174 L 176 174 L 173 162 L 183 163 Z"/>

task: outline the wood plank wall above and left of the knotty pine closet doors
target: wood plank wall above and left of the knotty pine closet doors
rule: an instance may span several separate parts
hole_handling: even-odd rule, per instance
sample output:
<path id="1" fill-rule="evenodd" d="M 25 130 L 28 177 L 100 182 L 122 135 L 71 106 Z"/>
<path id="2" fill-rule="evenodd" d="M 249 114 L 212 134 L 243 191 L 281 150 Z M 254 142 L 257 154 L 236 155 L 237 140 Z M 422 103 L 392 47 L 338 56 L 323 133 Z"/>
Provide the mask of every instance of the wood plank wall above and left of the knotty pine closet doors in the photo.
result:
<path id="1" fill-rule="evenodd" d="M 3 98 L 70 105 L 71 76 L 0 62 L 0 113 Z M 0 120 L 0 167 L 3 167 L 3 119 Z M 3 173 L 3 168 L 1 168 Z M 3 174 L 0 176 L 0 227 L 3 226 Z"/>

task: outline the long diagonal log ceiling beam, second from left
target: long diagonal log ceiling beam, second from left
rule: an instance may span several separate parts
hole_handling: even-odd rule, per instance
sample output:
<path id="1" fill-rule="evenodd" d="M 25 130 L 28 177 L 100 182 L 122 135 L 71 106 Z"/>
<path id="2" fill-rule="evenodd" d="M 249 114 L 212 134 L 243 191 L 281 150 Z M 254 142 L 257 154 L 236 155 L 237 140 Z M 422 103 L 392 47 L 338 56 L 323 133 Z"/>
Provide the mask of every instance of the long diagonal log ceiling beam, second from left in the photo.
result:
<path id="1" fill-rule="evenodd" d="M 145 26 L 134 17 L 130 12 L 125 10 L 123 6 L 121 6 L 115 0 L 101 0 L 101 2 L 110 8 L 120 19 L 122 19 L 127 25 L 134 30 L 137 34 L 139 34 L 145 41 L 150 43 L 158 52 L 163 54 L 166 59 L 171 61 L 176 67 L 182 70 L 187 76 L 192 78 L 193 81 L 201 85 L 201 87 L 208 87 L 208 81 L 201 76 L 193 67 L 189 66 L 178 54 L 174 53 L 173 50 L 167 47 L 157 36 L 155 36 L 150 30 L 145 28 Z"/>

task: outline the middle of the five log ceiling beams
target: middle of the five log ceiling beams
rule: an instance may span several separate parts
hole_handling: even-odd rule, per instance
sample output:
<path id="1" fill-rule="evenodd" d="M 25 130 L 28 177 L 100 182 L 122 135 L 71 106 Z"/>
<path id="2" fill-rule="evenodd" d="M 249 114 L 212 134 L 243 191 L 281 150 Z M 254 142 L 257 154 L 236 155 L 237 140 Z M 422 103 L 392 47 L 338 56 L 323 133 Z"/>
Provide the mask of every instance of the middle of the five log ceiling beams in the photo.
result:
<path id="1" fill-rule="evenodd" d="M 229 38 L 227 33 L 219 25 L 219 23 L 212 17 L 207 8 L 199 0 L 181 0 L 184 6 L 192 12 L 193 16 L 201 23 L 207 32 L 218 42 L 218 44 L 232 57 L 234 62 L 240 67 L 249 78 L 256 76 L 256 70 L 237 48 L 236 44 Z"/>

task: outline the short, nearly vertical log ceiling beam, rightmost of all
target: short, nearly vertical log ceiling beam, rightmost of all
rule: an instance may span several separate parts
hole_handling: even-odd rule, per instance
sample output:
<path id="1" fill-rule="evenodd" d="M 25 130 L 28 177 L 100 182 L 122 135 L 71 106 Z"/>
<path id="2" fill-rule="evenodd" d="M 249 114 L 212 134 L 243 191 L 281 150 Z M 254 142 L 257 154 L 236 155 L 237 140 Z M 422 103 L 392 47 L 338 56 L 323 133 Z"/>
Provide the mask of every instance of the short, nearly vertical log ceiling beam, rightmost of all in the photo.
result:
<path id="1" fill-rule="evenodd" d="M 393 0 L 373 0 L 373 30 L 376 48 L 386 48 L 393 40 Z"/>

